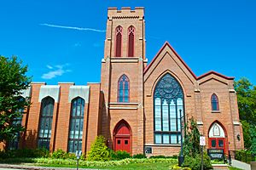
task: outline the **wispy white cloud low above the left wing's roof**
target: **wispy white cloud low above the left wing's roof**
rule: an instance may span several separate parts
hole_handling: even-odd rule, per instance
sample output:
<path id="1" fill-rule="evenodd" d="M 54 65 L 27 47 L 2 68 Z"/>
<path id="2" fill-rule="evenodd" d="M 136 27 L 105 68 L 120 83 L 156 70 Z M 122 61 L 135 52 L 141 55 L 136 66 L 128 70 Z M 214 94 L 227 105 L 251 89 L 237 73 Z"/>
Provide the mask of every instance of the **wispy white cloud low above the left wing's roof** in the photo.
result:
<path id="1" fill-rule="evenodd" d="M 52 79 L 55 77 L 61 77 L 64 73 L 71 71 L 69 69 L 64 69 L 64 67 L 67 65 L 69 65 L 69 64 L 55 65 L 55 66 L 46 65 L 47 68 L 49 68 L 50 70 L 54 70 L 54 71 L 49 71 L 47 73 L 44 73 L 42 78 L 43 79 Z"/>

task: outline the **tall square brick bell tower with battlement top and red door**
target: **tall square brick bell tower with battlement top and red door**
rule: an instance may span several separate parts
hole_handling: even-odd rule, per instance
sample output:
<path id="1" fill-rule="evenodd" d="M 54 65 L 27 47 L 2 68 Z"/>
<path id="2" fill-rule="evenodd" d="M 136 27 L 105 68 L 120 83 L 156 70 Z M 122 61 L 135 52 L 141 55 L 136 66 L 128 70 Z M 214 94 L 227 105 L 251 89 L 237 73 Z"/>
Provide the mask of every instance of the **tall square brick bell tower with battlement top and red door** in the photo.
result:
<path id="1" fill-rule="evenodd" d="M 102 59 L 102 134 L 113 150 L 143 153 L 144 8 L 108 8 Z"/>

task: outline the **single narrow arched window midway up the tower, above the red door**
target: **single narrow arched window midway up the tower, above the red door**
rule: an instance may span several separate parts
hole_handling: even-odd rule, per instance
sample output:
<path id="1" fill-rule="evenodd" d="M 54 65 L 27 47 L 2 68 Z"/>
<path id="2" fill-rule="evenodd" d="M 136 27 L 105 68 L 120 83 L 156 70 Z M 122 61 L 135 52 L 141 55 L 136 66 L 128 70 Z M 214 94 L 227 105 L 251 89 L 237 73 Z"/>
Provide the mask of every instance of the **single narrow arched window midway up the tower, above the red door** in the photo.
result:
<path id="1" fill-rule="evenodd" d="M 118 101 L 129 102 L 129 79 L 125 75 L 119 78 Z"/>

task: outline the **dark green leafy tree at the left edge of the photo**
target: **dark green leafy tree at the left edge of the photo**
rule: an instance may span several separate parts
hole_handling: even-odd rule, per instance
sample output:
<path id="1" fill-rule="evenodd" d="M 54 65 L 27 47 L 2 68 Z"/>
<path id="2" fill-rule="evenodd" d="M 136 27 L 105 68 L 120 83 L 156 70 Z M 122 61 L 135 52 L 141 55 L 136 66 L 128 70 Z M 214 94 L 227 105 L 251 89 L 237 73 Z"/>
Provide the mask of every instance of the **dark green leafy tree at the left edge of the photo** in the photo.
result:
<path id="1" fill-rule="evenodd" d="M 30 77 L 26 77 L 27 66 L 17 57 L 0 56 L 0 142 L 9 142 L 23 130 L 15 120 L 22 117 L 29 100 L 20 99 L 22 90 L 29 87 Z"/>

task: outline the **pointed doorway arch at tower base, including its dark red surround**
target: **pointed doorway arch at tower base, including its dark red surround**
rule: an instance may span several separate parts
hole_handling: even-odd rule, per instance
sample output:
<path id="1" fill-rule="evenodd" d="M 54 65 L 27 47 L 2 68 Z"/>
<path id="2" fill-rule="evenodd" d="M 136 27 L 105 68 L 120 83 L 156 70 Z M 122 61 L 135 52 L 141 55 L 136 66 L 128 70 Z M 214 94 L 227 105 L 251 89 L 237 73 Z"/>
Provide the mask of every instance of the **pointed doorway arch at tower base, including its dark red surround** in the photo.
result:
<path id="1" fill-rule="evenodd" d="M 119 121 L 113 129 L 113 149 L 131 153 L 131 127 L 125 120 Z"/>

